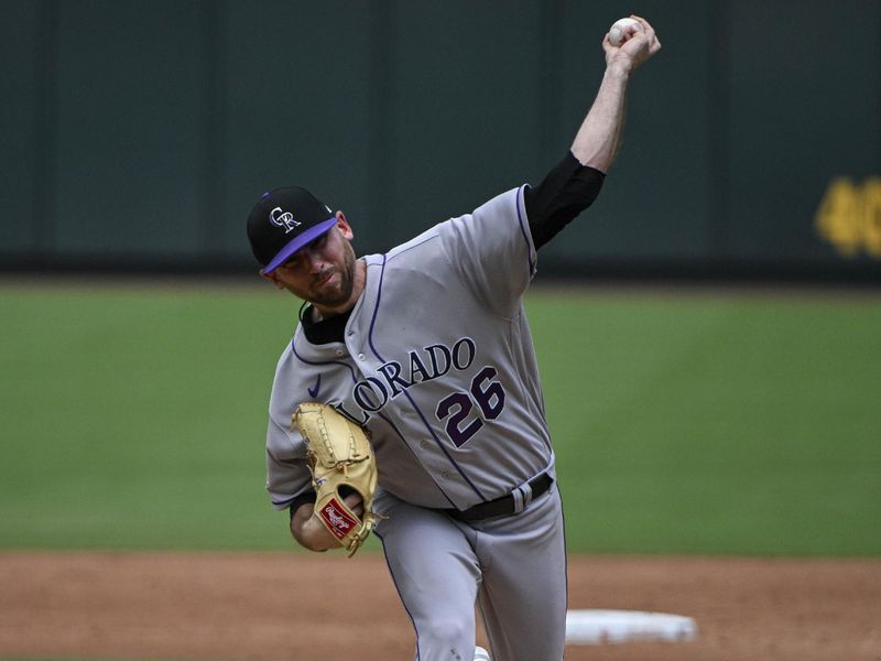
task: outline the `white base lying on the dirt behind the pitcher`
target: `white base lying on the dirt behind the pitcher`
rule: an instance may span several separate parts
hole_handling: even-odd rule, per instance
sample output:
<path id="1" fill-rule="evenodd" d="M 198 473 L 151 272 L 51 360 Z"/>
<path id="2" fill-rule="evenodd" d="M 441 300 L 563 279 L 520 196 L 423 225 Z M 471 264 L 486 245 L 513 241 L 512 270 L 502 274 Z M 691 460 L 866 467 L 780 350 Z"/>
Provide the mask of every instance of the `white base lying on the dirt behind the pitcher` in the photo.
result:
<path id="1" fill-rule="evenodd" d="M 567 644 L 694 640 L 697 625 L 690 617 L 639 610 L 569 610 Z"/>

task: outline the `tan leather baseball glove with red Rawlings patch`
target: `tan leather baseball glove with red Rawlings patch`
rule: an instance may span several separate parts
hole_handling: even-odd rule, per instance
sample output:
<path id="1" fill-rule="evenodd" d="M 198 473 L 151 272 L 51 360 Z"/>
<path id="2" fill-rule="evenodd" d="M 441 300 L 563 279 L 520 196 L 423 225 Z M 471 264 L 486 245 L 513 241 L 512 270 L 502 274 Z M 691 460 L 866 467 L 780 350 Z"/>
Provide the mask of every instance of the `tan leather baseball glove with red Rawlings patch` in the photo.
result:
<path id="1" fill-rule="evenodd" d="M 370 509 L 377 490 L 377 462 L 370 441 L 363 429 L 327 404 L 300 404 L 292 426 L 306 441 L 316 495 L 315 512 L 351 557 L 365 543 L 378 517 Z M 362 517 L 346 507 L 340 489 L 346 494 L 358 492 L 363 501 Z"/>

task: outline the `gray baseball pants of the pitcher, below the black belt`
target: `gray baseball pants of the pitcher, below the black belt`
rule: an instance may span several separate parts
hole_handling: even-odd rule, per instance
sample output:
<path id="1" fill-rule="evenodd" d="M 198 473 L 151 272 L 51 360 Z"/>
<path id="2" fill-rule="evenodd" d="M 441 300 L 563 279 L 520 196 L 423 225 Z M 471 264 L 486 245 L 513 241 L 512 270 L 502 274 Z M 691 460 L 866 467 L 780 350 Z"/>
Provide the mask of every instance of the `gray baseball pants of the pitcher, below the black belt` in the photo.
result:
<path id="1" fill-rule="evenodd" d="M 475 604 L 493 661 L 561 661 L 566 548 L 556 485 L 519 514 L 464 523 L 380 491 L 376 532 L 416 631 L 416 661 L 471 661 Z"/>

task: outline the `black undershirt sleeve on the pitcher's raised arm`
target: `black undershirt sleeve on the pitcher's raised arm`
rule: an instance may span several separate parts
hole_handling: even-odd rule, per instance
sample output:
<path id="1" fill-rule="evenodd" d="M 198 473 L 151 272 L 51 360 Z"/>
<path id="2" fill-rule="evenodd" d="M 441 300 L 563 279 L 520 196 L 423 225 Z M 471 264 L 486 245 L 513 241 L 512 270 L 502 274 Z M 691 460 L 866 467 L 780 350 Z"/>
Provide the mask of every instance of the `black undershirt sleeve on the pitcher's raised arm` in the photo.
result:
<path id="1" fill-rule="evenodd" d="M 523 202 L 536 250 L 594 203 L 605 180 L 602 172 L 581 165 L 567 151 L 541 184 L 526 186 Z"/>

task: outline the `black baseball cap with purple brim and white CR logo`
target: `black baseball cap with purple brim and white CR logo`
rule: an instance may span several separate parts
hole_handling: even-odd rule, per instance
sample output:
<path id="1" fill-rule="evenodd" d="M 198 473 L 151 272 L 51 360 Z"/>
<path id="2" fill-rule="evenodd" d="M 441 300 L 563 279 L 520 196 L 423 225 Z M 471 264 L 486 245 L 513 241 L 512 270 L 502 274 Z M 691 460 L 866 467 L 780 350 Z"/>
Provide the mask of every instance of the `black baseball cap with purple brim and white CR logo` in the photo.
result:
<path id="1" fill-rule="evenodd" d="M 336 224 L 330 207 L 305 188 L 275 188 L 263 193 L 248 215 L 248 240 L 263 272 L 271 273 Z"/>

